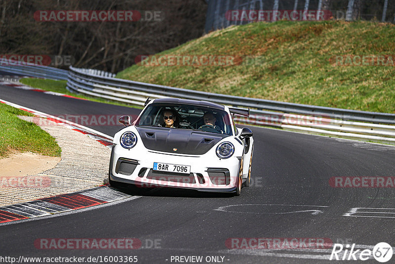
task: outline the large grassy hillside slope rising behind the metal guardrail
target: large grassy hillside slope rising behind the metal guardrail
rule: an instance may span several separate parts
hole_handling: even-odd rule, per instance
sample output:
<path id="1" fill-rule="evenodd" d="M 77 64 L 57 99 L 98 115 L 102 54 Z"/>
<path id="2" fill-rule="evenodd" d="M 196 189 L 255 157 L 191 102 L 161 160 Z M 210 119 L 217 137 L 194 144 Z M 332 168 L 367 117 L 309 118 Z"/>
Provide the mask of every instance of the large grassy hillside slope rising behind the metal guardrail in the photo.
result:
<path id="1" fill-rule="evenodd" d="M 336 55 L 394 55 L 393 24 L 259 22 L 209 33 L 159 54 L 261 56 L 250 65 L 133 65 L 118 78 L 270 100 L 395 113 L 394 66 L 336 66 Z"/>

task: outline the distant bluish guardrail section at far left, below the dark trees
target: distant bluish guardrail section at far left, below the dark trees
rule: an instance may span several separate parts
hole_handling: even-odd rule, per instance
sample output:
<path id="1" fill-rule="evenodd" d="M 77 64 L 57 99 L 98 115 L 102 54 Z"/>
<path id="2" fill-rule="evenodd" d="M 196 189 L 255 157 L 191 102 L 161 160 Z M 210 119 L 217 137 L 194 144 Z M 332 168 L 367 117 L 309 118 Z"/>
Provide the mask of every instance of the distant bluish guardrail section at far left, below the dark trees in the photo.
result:
<path id="1" fill-rule="evenodd" d="M 0 59 L 0 71 L 22 76 L 45 78 L 52 80 L 67 80 L 68 71 L 53 67 L 36 65 L 33 63 L 15 61 L 10 63 L 8 60 Z"/>

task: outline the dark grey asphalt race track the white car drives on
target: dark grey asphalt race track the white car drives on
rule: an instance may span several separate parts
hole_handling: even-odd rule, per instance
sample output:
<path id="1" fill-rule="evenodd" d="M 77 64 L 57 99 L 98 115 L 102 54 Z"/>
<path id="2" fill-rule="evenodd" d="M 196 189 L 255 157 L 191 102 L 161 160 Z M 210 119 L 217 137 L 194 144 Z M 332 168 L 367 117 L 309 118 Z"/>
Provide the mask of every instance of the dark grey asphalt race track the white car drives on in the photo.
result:
<path id="1" fill-rule="evenodd" d="M 5 86 L 0 87 L 0 98 L 51 115 L 137 115 L 140 112 Z M 88 127 L 111 136 L 122 128 L 121 125 Z M 181 256 L 202 256 L 200 263 L 315 264 L 334 263 L 329 261 L 332 246 L 326 249 L 238 247 L 242 238 L 250 242 L 255 241 L 253 238 L 322 239 L 319 241 L 355 243 L 361 250 L 372 250 L 379 242 L 395 246 L 394 188 L 334 188 L 329 184 L 331 177 L 338 176 L 395 176 L 395 147 L 251 129 L 255 138 L 253 181 L 251 187 L 242 189 L 239 197 L 167 188 L 129 190 L 141 197 L 0 226 L 1 255 L 15 258 L 137 256 L 137 263 L 141 264 L 187 260 L 178 258 L 177 262 L 175 257 Z M 41 238 L 137 238 L 142 248 L 38 249 L 35 241 Z M 394 259 L 388 263 L 394 263 Z M 370 259 L 363 263 L 378 262 Z"/>

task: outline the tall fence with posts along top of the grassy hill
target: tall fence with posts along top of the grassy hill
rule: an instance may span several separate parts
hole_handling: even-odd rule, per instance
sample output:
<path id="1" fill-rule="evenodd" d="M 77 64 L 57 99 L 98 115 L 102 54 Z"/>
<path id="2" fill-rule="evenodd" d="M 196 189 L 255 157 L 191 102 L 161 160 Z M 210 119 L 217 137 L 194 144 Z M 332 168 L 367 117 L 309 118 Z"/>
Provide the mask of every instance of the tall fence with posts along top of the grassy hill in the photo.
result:
<path id="1" fill-rule="evenodd" d="M 395 23 L 395 0 L 207 0 L 207 3 L 206 33 L 231 25 L 282 19 Z"/>

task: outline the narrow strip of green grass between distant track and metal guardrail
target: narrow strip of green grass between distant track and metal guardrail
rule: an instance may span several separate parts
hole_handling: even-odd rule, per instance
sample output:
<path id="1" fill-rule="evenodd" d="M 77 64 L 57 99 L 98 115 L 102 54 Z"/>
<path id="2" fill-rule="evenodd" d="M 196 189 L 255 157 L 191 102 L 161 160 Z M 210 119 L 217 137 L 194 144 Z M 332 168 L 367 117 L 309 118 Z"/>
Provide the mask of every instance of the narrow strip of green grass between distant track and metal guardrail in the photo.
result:
<path id="1" fill-rule="evenodd" d="M 102 98 L 95 98 L 92 96 L 86 96 L 86 95 L 70 92 L 66 88 L 67 81 L 56 81 L 56 80 L 38 79 L 38 78 L 23 78 L 23 79 L 20 79 L 19 82 L 24 85 L 31 86 L 33 88 L 39 88 L 39 89 L 45 90 L 45 91 L 54 91 L 54 92 L 64 93 L 64 94 L 72 95 L 74 97 L 87 99 L 87 100 L 95 101 L 95 102 L 99 102 L 99 103 L 116 104 L 116 105 L 120 105 L 120 106 L 133 107 L 133 108 L 142 108 L 141 106 L 130 106 L 129 104 L 125 104 L 125 103 L 119 103 L 116 101 L 110 101 L 110 100 L 106 100 L 106 99 L 102 99 Z"/>

